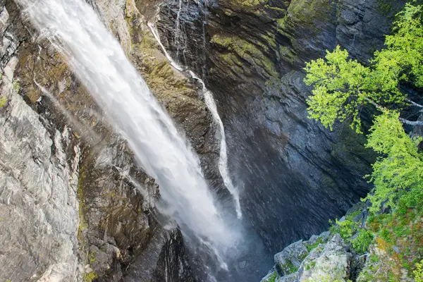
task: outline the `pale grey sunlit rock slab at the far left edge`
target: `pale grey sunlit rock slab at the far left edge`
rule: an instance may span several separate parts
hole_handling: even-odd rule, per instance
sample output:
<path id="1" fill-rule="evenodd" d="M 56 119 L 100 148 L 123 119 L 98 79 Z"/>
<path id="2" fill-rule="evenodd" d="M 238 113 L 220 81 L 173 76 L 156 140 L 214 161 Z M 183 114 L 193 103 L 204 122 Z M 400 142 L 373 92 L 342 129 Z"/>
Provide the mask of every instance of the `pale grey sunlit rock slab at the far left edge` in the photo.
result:
<path id="1" fill-rule="evenodd" d="M 1 278 L 75 281 L 80 147 L 67 126 L 47 130 L 10 75 L 0 82 Z"/>

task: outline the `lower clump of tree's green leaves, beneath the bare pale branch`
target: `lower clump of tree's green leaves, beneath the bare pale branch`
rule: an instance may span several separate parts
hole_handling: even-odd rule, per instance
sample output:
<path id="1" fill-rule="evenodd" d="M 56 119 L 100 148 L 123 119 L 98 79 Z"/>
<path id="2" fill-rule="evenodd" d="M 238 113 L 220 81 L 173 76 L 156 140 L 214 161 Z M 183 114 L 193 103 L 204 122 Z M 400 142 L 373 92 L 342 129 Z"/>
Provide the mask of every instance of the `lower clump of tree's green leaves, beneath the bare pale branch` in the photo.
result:
<path id="1" fill-rule="evenodd" d="M 367 147 L 382 154 L 375 164 L 371 180 L 376 186 L 374 195 L 364 200 L 372 202 L 371 212 L 379 211 L 381 204 L 395 207 L 400 195 L 407 190 L 409 206 L 418 204 L 412 195 L 423 189 L 423 156 L 417 145 L 422 138 L 412 140 L 398 120 L 398 113 L 377 116 L 368 137 Z"/>

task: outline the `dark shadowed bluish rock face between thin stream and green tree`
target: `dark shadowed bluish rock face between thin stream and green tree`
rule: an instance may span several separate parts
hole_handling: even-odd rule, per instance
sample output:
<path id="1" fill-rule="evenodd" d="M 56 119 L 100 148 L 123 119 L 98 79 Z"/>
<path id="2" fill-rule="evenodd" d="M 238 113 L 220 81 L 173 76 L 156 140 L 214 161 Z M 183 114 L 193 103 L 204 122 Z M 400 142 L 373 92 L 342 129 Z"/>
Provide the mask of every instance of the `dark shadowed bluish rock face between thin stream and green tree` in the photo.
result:
<path id="1" fill-rule="evenodd" d="M 374 156 L 347 125 L 329 132 L 307 118 L 302 67 L 337 44 L 366 62 L 404 1 L 176 2 L 164 1 L 159 27 L 218 99 L 247 217 L 274 252 L 320 233 L 368 192 Z"/>

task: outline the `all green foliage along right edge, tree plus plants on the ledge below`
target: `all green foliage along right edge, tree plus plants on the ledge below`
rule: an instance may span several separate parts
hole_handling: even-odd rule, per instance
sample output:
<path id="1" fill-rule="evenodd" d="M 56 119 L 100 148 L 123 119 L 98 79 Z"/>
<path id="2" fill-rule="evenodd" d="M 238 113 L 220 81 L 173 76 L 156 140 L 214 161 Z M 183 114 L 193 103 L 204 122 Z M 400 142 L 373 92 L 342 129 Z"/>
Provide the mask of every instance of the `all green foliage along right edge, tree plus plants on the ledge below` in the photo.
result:
<path id="1" fill-rule="evenodd" d="M 379 250 L 357 281 L 400 281 L 401 269 L 415 269 L 415 281 L 423 282 L 422 264 L 416 264 L 423 257 L 423 153 L 417 148 L 422 138 L 405 133 L 401 122 L 407 121 L 399 114 L 410 102 L 400 85 L 423 87 L 423 6 L 415 3 L 398 13 L 386 49 L 376 51 L 369 66 L 337 47 L 305 68 L 305 82 L 312 86 L 309 116 L 326 128 L 350 119 L 360 133 L 360 111 L 376 109 L 366 145 L 379 154 L 369 176 L 374 192 L 364 199 L 372 203 L 369 229 L 348 216 L 331 228 L 356 252 L 366 252 L 370 244 Z M 390 212 L 379 214 L 381 207 Z"/>

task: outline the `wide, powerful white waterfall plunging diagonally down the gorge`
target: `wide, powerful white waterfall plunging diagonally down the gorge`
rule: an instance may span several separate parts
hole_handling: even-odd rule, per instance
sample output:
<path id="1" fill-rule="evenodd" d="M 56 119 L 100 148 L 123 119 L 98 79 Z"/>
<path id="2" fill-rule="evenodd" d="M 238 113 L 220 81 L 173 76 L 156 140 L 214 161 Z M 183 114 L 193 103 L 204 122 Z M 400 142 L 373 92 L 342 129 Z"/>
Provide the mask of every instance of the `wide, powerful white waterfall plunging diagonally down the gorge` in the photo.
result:
<path id="1" fill-rule="evenodd" d="M 237 235 L 219 216 L 199 159 L 92 8 L 83 0 L 16 1 L 157 180 L 161 211 L 219 250 L 233 245 Z"/>

